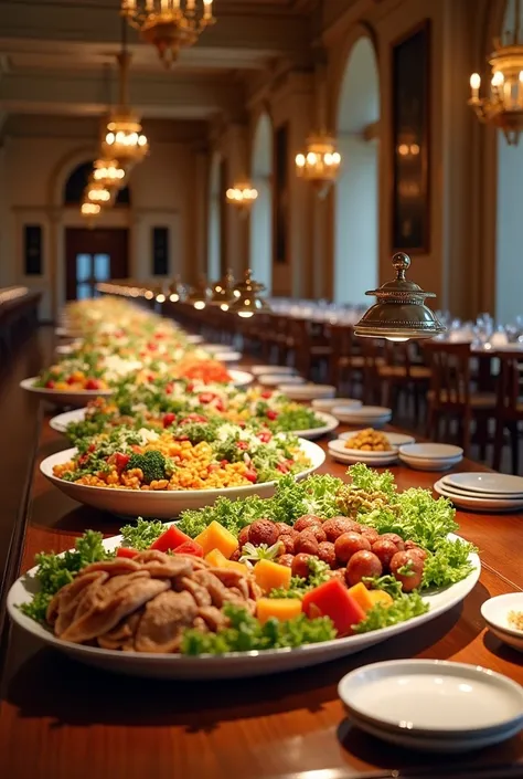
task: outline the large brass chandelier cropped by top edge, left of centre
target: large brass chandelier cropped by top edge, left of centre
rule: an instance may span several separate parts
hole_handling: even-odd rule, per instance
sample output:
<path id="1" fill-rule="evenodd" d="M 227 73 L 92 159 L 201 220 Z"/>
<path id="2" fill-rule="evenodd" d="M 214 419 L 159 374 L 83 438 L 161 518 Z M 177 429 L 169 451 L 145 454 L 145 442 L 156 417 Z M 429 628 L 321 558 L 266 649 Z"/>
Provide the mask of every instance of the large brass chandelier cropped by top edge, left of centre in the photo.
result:
<path id="1" fill-rule="evenodd" d="M 213 0 L 121 0 L 121 15 L 158 49 L 166 67 L 216 21 Z"/>

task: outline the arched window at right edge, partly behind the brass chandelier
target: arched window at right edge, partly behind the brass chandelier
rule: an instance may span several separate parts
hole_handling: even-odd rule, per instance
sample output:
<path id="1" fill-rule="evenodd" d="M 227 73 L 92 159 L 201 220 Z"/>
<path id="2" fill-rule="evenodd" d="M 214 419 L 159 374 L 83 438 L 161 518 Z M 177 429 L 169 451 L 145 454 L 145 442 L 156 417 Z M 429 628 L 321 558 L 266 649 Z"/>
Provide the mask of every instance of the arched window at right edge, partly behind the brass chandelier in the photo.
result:
<path id="1" fill-rule="evenodd" d="M 523 24 L 521 9 L 520 29 Z M 498 34 L 514 29 L 514 0 L 508 0 L 503 23 Z M 523 180 L 523 145 L 509 146 L 501 130 L 497 130 L 498 147 L 498 194 L 495 235 L 495 318 L 500 323 L 514 323 L 523 316 L 520 285 L 521 277 L 521 233 L 523 203 L 521 182 Z"/>

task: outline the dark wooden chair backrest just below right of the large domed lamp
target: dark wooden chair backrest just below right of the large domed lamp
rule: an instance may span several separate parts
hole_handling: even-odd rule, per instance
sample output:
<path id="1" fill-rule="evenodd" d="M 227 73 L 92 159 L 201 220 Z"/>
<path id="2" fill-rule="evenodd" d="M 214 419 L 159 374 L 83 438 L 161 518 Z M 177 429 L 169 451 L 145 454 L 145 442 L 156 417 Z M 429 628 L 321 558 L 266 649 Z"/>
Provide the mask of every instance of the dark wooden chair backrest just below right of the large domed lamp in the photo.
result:
<path id="1" fill-rule="evenodd" d="M 435 407 L 470 407 L 470 344 L 428 341 L 430 392 Z"/>

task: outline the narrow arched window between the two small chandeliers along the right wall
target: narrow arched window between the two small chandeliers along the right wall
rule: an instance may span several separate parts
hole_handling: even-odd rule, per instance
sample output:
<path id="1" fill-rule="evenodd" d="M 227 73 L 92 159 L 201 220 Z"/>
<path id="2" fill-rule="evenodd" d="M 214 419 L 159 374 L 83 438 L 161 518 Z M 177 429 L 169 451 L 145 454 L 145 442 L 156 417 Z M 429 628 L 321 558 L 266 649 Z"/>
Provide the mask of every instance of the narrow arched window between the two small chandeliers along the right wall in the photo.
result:
<path id="1" fill-rule="evenodd" d="M 273 124 L 262 114 L 256 126 L 250 158 L 253 185 L 258 197 L 250 212 L 249 264 L 254 277 L 273 286 Z"/>

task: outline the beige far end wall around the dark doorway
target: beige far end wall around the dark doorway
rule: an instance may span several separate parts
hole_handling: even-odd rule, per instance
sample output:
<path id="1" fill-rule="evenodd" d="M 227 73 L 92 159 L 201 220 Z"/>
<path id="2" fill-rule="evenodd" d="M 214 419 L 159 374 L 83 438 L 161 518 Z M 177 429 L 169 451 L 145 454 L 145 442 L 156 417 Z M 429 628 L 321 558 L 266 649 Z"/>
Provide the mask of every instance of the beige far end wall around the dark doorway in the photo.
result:
<path id="1" fill-rule="evenodd" d="M 42 318 L 52 318 L 64 299 L 65 229 L 85 227 L 78 209 L 63 208 L 63 187 L 76 165 L 95 154 L 88 138 L 63 136 L 60 119 L 55 137 L 49 137 L 47 130 L 46 137 L 39 137 L 34 127 L 32 137 L 8 137 L 0 152 L 0 284 L 23 283 L 41 290 Z M 188 143 L 151 143 L 151 155 L 131 173 L 130 209 L 113 209 L 99 219 L 100 227 L 129 227 L 129 269 L 135 277 L 151 277 L 151 228 L 157 225 L 171 231 L 172 273 L 195 278 L 194 259 L 203 262 L 204 255 L 202 231 L 196 230 L 204 224 L 204 199 L 198 197 L 205 186 L 204 161 Z M 23 225 L 28 223 L 43 227 L 41 277 L 23 274 Z"/>

